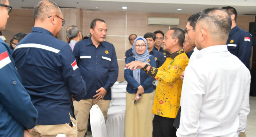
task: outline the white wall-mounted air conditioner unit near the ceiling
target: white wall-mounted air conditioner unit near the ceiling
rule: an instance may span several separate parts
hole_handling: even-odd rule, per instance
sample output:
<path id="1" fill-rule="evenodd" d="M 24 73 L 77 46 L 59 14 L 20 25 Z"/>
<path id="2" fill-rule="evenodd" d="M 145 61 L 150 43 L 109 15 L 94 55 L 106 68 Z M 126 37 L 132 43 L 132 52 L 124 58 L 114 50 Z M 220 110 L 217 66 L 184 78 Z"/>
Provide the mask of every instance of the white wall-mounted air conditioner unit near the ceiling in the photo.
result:
<path id="1" fill-rule="evenodd" d="M 148 17 L 148 25 L 179 25 L 179 18 Z"/>

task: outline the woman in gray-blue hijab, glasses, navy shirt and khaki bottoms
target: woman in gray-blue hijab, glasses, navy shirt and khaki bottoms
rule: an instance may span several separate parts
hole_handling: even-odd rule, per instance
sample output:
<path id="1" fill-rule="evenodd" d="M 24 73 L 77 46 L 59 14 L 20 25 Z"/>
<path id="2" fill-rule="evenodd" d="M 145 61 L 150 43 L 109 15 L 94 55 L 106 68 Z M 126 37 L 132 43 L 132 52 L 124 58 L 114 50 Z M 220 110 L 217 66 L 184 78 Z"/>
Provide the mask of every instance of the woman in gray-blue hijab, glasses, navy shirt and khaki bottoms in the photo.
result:
<path id="1" fill-rule="evenodd" d="M 132 45 L 133 56 L 126 60 L 142 61 L 156 67 L 156 61 L 148 53 L 147 40 L 137 37 Z M 148 65 L 149 65 L 148 64 Z M 141 69 L 124 68 L 126 87 L 125 137 L 152 137 L 152 106 L 154 78 Z M 140 96 L 141 95 L 141 96 Z M 136 103 L 135 103 L 136 102 Z"/>

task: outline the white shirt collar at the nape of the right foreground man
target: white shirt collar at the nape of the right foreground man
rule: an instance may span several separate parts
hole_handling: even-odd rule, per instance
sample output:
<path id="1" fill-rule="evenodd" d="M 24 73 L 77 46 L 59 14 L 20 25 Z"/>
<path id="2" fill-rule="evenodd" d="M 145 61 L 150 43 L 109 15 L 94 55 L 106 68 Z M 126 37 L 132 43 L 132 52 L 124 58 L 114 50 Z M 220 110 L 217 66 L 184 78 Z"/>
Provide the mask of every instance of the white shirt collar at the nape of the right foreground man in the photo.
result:
<path id="1" fill-rule="evenodd" d="M 205 56 L 206 54 L 215 53 L 215 52 L 228 52 L 227 45 L 215 45 L 206 47 L 204 49 L 199 50 L 197 53 L 197 58 L 201 58 Z"/>

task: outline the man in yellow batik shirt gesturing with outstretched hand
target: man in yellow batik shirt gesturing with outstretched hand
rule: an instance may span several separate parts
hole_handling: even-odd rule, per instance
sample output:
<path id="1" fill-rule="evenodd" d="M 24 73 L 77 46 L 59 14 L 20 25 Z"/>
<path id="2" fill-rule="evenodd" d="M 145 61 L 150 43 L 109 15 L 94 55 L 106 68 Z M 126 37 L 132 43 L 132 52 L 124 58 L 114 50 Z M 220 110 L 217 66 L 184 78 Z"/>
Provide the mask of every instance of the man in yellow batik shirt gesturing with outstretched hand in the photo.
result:
<path id="1" fill-rule="evenodd" d="M 152 112 L 153 137 L 176 137 L 174 119 L 180 107 L 182 81 L 180 74 L 185 70 L 189 59 L 182 49 L 184 31 L 179 28 L 171 28 L 163 39 L 163 49 L 168 51 L 163 65 L 159 68 L 150 66 L 149 63 L 132 61 L 126 64 L 128 69 L 140 69 L 158 80 Z"/>

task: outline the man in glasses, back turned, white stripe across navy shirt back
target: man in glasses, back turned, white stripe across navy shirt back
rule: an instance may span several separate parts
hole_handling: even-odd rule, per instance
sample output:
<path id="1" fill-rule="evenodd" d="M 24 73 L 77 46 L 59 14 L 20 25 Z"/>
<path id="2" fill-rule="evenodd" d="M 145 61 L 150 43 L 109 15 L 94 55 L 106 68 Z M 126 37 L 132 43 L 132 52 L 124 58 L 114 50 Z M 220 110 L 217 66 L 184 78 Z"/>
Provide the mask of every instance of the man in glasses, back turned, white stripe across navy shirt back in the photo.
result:
<path id="1" fill-rule="evenodd" d="M 40 1 L 33 11 L 32 32 L 13 52 L 22 84 L 39 112 L 30 136 L 56 137 L 63 133 L 75 137 L 77 126 L 71 116 L 71 105 L 85 97 L 86 91 L 69 44 L 56 38 L 65 20 L 51 0 Z"/>

